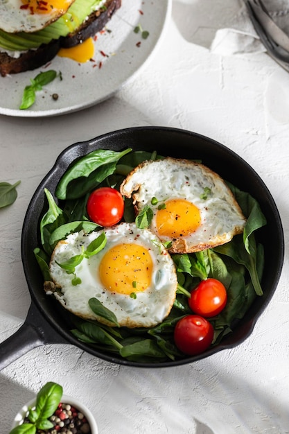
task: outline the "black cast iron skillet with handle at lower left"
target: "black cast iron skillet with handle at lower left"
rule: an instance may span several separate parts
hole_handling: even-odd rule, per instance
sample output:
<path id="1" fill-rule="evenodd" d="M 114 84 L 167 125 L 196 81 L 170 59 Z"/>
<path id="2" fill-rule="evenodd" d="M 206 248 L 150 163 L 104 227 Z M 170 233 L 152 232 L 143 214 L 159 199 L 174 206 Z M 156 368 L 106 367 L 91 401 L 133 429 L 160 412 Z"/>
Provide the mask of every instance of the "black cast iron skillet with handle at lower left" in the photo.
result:
<path id="1" fill-rule="evenodd" d="M 234 327 L 216 347 L 210 348 L 198 356 L 188 356 L 178 361 L 162 363 L 136 363 L 121 356 L 114 356 L 105 351 L 89 347 L 74 338 L 69 332 L 67 314 L 53 297 L 45 295 L 43 279 L 35 261 L 33 249 L 40 245 L 37 239 L 39 220 L 43 215 L 46 202 L 44 187 L 55 191 L 60 177 L 73 160 L 86 155 L 92 150 L 103 148 L 122 150 L 131 147 L 134 150 L 157 150 L 161 155 L 201 159 L 239 189 L 251 193 L 259 201 L 268 224 L 259 230 L 259 239 L 265 248 L 265 270 L 262 287 L 264 295 L 257 297 L 243 320 Z M 0 369 L 15 361 L 30 349 L 49 343 L 68 343 L 76 345 L 98 358 L 120 365 L 136 367 L 169 367 L 198 361 L 216 352 L 235 347 L 249 336 L 256 320 L 270 302 L 277 287 L 283 266 L 283 229 L 279 211 L 275 202 L 259 175 L 241 157 L 222 144 L 194 132 L 164 127 L 127 128 L 103 134 L 91 141 L 73 144 L 58 157 L 51 171 L 37 187 L 30 201 L 21 235 L 21 257 L 24 272 L 31 295 L 31 306 L 24 324 L 18 331 L 0 345 Z"/>

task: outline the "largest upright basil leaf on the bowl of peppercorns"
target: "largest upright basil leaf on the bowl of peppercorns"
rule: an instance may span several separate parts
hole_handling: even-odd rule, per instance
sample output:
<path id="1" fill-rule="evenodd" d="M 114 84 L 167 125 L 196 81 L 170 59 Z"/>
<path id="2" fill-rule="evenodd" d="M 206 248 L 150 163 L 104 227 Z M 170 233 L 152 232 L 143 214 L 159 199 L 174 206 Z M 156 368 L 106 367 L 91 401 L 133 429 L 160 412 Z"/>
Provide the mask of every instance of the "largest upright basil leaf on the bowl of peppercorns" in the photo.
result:
<path id="1" fill-rule="evenodd" d="M 58 408 L 62 398 L 62 386 L 49 381 L 37 393 L 35 409 L 38 413 L 38 420 L 48 419 Z"/>

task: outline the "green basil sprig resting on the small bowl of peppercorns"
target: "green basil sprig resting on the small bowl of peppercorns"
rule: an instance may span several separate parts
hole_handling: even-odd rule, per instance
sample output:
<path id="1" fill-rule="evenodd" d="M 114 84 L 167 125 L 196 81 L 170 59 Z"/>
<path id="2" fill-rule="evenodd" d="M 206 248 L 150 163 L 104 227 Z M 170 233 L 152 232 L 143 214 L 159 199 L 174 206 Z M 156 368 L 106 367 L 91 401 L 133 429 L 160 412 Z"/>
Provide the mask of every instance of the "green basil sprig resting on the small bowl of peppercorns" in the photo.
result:
<path id="1" fill-rule="evenodd" d="M 10 431 L 10 434 L 35 434 L 37 429 L 48 430 L 53 428 L 53 423 L 49 417 L 58 408 L 62 398 L 62 386 L 49 381 L 37 393 L 35 407 L 28 408 L 27 418 L 29 422 L 24 422 Z"/>

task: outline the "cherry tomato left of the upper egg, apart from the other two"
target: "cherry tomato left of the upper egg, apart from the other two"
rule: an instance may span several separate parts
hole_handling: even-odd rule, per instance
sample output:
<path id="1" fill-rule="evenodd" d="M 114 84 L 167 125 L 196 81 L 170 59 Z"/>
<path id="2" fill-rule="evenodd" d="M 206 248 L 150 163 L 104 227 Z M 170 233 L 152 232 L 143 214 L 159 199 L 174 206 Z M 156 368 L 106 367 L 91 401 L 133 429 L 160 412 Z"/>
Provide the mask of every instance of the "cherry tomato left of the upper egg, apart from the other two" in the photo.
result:
<path id="1" fill-rule="evenodd" d="M 124 202 L 121 193 L 111 187 L 94 190 L 87 200 L 89 218 L 100 226 L 113 226 L 123 217 Z"/>

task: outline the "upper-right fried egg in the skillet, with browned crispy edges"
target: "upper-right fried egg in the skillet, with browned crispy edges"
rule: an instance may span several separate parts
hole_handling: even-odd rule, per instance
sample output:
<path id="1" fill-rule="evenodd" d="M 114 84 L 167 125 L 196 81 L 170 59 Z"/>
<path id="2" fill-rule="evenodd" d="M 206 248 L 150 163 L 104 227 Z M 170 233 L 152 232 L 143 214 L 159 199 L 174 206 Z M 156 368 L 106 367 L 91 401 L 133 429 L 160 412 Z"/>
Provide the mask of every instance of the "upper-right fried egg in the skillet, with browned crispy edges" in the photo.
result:
<path id="1" fill-rule="evenodd" d="M 199 252 L 243 232 L 245 217 L 224 180 L 203 164 L 165 158 L 143 162 L 121 184 L 137 213 L 152 209 L 150 230 L 170 252 Z"/>

